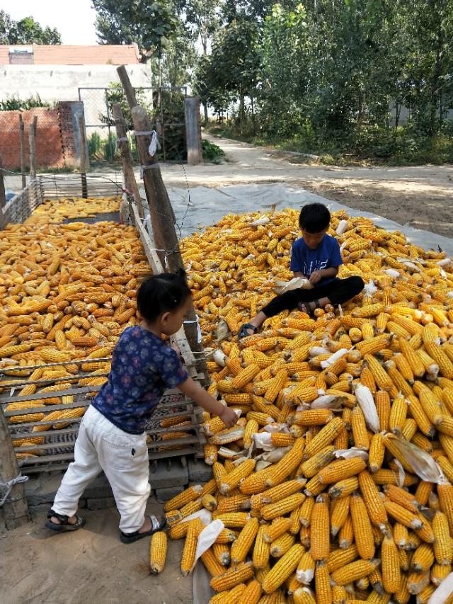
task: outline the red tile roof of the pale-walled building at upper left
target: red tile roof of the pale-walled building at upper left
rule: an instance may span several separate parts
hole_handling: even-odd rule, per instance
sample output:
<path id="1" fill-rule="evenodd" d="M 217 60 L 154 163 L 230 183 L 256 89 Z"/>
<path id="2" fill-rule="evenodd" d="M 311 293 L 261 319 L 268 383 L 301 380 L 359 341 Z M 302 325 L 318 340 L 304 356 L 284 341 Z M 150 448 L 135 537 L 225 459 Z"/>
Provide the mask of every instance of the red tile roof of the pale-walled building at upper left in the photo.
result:
<path id="1" fill-rule="evenodd" d="M 0 65 L 9 64 L 9 52 L 32 45 L 0 45 Z M 108 45 L 71 46 L 71 45 L 33 45 L 33 64 L 35 65 L 122 65 L 139 62 L 137 46 Z"/>

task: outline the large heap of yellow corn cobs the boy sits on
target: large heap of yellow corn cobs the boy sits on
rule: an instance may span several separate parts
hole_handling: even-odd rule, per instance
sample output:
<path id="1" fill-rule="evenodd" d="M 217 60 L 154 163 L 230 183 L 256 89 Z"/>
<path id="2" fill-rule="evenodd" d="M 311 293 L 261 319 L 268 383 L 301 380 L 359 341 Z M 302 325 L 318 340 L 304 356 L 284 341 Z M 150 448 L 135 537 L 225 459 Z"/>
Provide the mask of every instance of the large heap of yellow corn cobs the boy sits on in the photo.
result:
<path id="1" fill-rule="evenodd" d="M 292 277 L 297 212 L 267 217 L 224 217 L 183 241 L 205 343 Z M 367 219 L 336 212 L 337 229 L 340 277 L 376 288 L 341 312 L 285 312 L 239 343 L 219 338 L 208 363 L 211 394 L 241 418 L 205 418 L 214 477 L 165 509 L 185 574 L 200 513 L 224 523 L 201 558 L 212 604 L 427 603 L 447 576 L 452 588 L 453 265 Z"/>

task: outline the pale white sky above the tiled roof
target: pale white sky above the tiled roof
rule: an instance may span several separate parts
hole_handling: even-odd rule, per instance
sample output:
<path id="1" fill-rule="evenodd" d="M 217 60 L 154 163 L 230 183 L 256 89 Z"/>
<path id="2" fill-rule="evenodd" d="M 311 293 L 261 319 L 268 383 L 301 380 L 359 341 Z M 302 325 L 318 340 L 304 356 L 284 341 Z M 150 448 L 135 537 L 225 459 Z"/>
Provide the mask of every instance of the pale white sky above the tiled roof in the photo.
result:
<path id="1" fill-rule="evenodd" d="M 14 21 L 32 16 L 43 28 L 56 27 L 63 44 L 98 43 L 91 0 L 0 0 L 0 9 Z"/>

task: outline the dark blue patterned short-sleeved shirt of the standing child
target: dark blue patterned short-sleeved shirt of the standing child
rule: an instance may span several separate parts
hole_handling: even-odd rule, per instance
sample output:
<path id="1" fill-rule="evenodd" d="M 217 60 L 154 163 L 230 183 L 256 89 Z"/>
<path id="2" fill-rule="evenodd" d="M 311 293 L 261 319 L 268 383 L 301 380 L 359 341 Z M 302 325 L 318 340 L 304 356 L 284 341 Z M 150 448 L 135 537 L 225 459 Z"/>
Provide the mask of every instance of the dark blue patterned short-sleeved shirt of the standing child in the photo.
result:
<path id="1" fill-rule="evenodd" d="M 113 350 L 108 381 L 92 405 L 117 428 L 142 434 L 164 391 L 188 377 L 178 353 L 161 338 L 140 326 L 127 327 Z"/>

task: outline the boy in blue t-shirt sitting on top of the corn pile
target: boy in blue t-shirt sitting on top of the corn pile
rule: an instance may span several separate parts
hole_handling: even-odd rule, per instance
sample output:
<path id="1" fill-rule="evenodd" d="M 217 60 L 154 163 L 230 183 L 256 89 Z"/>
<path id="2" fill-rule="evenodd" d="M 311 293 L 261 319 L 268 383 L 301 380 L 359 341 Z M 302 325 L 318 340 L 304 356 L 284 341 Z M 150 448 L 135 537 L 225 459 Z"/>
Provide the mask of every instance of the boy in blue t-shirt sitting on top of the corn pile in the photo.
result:
<path id="1" fill-rule="evenodd" d="M 336 276 L 343 260 L 338 241 L 327 234 L 330 222 L 331 213 L 322 203 L 302 207 L 299 215 L 302 237 L 292 246 L 290 268 L 294 277 L 308 279 L 313 288 L 292 290 L 273 298 L 250 323 L 241 326 L 239 339 L 254 334 L 266 319 L 282 310 L 299 308 L 313 317 L 316 308 L 343 304 L 362 291 L 365 287 L 362 278 Z"/>

